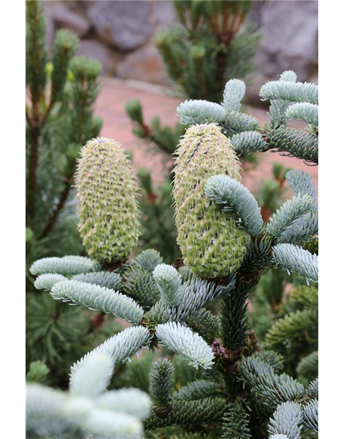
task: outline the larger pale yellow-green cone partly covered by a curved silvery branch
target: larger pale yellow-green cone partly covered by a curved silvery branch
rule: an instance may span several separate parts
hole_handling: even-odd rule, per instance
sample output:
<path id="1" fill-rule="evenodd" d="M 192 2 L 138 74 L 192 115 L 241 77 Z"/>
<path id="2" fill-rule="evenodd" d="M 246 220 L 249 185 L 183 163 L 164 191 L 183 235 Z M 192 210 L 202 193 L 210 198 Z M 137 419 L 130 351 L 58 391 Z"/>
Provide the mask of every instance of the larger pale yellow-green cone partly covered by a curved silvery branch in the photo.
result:
<path id="1" fill-rule="evenodd" d="M 224 277 L 239 268 L 250 237 L 235 223 L 235 214 L 204 195 L 211 176 L 241 180 L 232 144 L 215 123 L 191 126 L 176 151 L 175 220 L 185 264 L 204 278 Z"/>

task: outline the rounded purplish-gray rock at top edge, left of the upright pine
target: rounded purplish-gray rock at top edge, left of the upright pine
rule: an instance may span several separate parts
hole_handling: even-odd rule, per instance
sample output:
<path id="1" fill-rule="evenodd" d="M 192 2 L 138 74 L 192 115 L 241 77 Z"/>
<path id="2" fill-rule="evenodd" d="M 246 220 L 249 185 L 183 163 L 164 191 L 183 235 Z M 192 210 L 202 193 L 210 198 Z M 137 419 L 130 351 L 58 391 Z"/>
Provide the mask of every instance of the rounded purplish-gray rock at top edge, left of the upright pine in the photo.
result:
<path id="1" fill-rule="evenodd" d="M 130 51 L 152 34 L 150 1 L 90 1 L 87 14 L 97 34 L 107 44 Z"/>

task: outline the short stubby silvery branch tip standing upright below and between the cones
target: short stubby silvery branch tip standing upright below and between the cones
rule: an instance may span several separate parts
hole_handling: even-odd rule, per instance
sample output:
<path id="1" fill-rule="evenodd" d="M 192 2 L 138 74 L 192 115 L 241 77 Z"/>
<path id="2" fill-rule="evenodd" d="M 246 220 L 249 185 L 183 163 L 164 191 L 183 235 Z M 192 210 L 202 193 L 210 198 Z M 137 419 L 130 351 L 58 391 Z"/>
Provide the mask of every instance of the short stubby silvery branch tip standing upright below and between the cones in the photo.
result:
<path id="1" fill-rule="evenodd" d="M 181 276 L 178 270 L 171 265 L 157 265 L 152 273 L 154 280 L 158 285 L 161 296 L 169 307 L 176 306 L 181 300 Z"/>

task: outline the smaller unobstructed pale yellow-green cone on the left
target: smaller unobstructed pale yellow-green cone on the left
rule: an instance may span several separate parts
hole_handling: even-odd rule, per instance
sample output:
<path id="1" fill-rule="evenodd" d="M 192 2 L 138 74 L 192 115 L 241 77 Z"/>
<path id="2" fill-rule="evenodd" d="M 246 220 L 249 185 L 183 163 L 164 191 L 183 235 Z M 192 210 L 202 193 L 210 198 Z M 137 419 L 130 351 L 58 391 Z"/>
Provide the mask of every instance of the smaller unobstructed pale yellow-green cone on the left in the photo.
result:
<path id="1" fill-rule="evenodd" d="M 104 137 L 88 141 L 75 180 L 87 253 L 101 263 L 125 261 L 139 237 L 139 209 L 137 184 L 120 143 Z"/>

